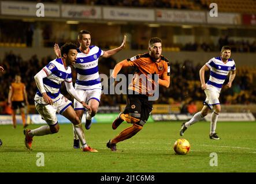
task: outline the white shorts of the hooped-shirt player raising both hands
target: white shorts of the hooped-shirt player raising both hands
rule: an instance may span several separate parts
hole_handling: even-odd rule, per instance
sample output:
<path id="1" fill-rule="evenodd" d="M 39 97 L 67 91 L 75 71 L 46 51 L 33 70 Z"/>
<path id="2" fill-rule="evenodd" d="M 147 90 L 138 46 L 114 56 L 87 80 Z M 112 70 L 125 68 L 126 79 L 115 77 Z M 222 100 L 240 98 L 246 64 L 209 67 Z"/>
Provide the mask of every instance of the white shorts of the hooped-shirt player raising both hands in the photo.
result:
<path id="1" fill-rule="evenodd" d="M 90 101 L 90 99 L 96 99 L 98 102 L 101 101 L 101 89 L 93 89 L 93 90 L 76 90 L 77 94 L 81 99 L 83 99 L 86 104 Z M 74 99 L 74 109 L 75 110 L 86 110 L 83 105 L 76 99 Z"/>

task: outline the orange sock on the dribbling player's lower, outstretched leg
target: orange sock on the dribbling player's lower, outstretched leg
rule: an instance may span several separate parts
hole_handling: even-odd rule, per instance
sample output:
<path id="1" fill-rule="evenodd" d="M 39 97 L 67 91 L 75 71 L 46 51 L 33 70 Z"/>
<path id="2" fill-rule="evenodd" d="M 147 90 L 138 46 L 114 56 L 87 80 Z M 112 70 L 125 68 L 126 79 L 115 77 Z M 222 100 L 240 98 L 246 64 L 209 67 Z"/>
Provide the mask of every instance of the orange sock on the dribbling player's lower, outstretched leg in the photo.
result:
<path id="1" fill-rule="evenodd" d="M 124 129 L 119 133 L 114 139 L 111 140 L 111 143 L 118 143 L 120 141 L 126 140 L 138 133 L 143 127 L 137 124 L 133 124 L 131 127 Z"/>

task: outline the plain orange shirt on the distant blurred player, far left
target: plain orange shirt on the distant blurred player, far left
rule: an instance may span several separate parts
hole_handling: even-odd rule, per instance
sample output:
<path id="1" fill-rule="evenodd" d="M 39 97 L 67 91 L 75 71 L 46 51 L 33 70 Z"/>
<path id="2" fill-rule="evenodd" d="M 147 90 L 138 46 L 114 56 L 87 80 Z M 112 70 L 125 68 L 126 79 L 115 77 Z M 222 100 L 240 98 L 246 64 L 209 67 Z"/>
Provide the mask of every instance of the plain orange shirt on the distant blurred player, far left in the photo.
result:
<path id="1" fill-rule="evenodd" d="M 13 82 L 10 85 L 10 89 L 12 89 L 12 101 L 24 101 L 24 83 Z"/>

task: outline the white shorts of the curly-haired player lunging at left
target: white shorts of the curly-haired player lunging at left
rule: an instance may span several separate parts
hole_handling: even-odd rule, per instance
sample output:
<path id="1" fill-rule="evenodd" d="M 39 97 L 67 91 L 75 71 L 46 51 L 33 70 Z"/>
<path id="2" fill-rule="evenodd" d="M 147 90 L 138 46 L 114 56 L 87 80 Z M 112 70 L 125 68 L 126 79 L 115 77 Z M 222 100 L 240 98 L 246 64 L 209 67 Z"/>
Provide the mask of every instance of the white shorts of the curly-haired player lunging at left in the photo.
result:
<path id="1" fill-rule="evenodd" d="M 35 102 L 36 110 L 48 125 L 57 124 L 58 120 L 56 112 L 62 114 L 70 105 L 72 105 L 72 102 L 68 98 L 64 97 L 62 94 L 60 94 L 60 96 L 61 98 L 55 101 L 53 105 L 42 105 Z"/>

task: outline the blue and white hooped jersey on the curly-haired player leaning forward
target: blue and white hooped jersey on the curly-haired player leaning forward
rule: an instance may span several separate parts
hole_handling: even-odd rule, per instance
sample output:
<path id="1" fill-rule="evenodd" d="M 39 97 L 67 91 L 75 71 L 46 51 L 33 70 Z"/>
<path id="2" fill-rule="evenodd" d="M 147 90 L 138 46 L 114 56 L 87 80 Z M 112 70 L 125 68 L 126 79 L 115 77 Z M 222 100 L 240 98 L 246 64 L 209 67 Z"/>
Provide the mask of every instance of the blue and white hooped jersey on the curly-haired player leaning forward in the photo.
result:
<path id="1" fill-rule="evenodd" d="M 47 77 L 43 78 L 43 86 L 47 95 L 53 102 L 60 98 L 60 89 L 62 82 L 72 82 L 71 67 L 65 67 L 61 58 L 52 60 L 47 66 L 42 69 L 46 72 Z M 40 91 L 36 91 L 35 101 L 38 104 L 45 104 Z"/>

